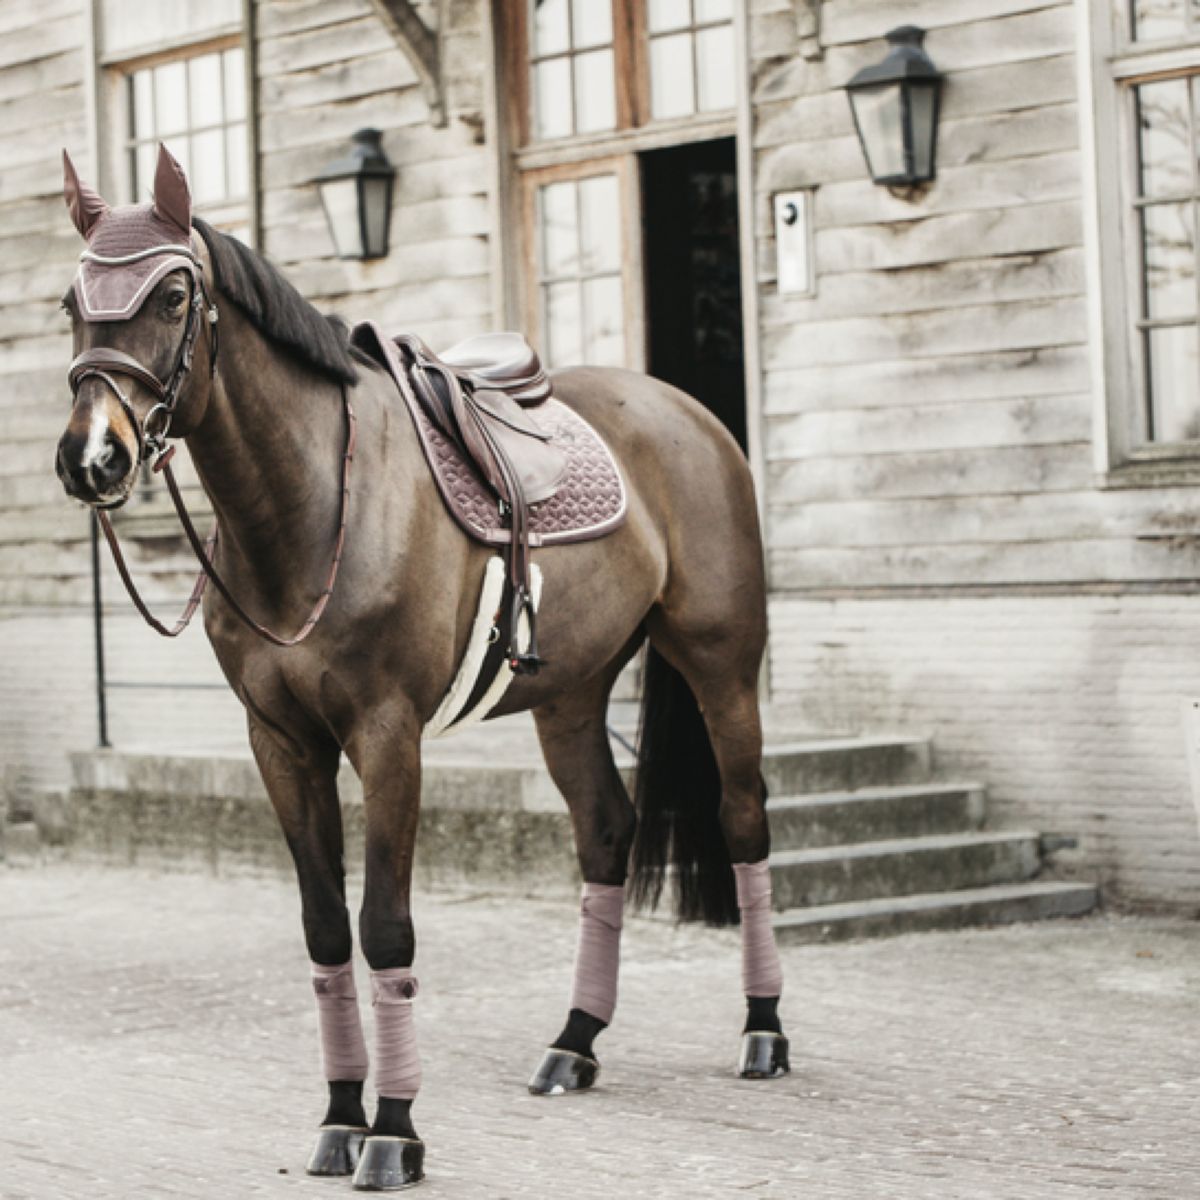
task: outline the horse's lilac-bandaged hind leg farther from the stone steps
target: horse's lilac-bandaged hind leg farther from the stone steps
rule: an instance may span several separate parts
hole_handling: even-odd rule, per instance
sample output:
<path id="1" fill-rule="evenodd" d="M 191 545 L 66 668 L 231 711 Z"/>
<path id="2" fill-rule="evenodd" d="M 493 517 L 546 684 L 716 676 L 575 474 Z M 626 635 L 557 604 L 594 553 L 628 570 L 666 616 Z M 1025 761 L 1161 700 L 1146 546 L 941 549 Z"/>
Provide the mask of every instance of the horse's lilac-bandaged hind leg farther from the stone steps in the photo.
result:
<path id="1" fill-rule="evenodd" d="M 580 1091 L 595 1082 L 599 1064 L 593 1042 L 612 1020 L 617 1002 L 625 872 L 636 824 L 606 725 L 608 692 L 618 671 L 619 664 L 584 690 L 534 712 L 546 767 L 570 809 L 583 875 L 566 1025 L 529 1081 L 529 1091 L 541 1096 Z"/>

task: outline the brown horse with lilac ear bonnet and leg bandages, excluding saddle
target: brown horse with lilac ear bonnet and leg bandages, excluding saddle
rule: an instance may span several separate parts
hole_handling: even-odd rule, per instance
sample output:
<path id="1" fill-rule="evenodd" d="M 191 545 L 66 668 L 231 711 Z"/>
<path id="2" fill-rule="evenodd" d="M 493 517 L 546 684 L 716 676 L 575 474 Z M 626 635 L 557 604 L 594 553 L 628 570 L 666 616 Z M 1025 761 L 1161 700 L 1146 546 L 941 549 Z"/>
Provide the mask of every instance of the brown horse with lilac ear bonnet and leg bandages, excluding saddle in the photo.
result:
<path id="1" fill-rule="evenodd" d="M 76 358 L 56 472 L 70 497 L 103 517 L 128 498 L 143 463 L 160 469 L 169 458 L 168 438 L 190 450 L 218 530 L 215 545 L 191 539 L 220 587 L 193 594 L 190 607 L 203 605 L 245 706 L 312 962 L 328 1105 L 308 1170 L 353 1174 L 364 1190 L 410 1186 L 425 1163 L 412 1116 L 420 1061 L 409 906 L 421 737 L 464 655 L 497 550 L 449 515 L 396 379 L 264 257 L 193 216 L 166 148 L 149 204 L 110 208 L 66 152 L 64 170 L 86 248 L 64 298 Z M 779 1078 L 788 1049 L 770 926 L 757 696 L 766 580 L 750 472 L 720 422 L 662 382 L 574 367 L 553 372 L 552 389 L 611 450 L 625 510 L 602 538 L 534 548 L 545 661 L 504 664 L 511 678 L 488 714 L 532 712 L 583 881 L 566 1021 L 528 1086 L 559 1096 L 594 1085 L 626 898 L 653 905 L 666 882 L 680 918 L 740 923 L 737 1069 Z M 606 716 L 617 677 L 644 643 L 631 799 Z M 372 1054 L 346 900 L 343 754 L 362 781 L 358 929 Z"/>

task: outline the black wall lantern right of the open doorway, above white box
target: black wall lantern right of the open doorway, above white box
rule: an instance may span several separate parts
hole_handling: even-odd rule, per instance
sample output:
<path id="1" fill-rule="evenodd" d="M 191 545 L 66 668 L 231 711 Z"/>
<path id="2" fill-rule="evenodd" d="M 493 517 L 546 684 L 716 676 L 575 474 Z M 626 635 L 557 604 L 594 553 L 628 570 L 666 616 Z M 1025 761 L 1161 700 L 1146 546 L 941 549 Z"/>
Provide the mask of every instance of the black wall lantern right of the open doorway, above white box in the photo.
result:
<path id="1" fill-rule="evenodd" d="M 888 34 L 887 58 L 846 84 L 858 139 L 876 184 L 908 187 L 936 174 L 942 72 L 924 49 L 925 31 Z"/>

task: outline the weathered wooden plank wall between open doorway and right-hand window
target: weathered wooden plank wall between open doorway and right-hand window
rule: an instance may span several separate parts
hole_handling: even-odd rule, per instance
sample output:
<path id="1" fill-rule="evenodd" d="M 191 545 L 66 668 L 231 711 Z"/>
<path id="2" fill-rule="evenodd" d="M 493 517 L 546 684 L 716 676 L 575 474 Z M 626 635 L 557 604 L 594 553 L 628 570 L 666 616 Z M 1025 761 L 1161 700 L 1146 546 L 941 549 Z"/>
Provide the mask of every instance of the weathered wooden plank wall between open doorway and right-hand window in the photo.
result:
<path id="1" fill-rule="evenodd" d="M 1092 461 L 1074 5 L 749 0 L 776 593 L 1195 575 L 1200 502 Z M 947 72 L 938 178 L 875 186 L 847 79 L 901 23 Z M 817 292 L 780 296 L 770 198 L 815 188 Z"/>

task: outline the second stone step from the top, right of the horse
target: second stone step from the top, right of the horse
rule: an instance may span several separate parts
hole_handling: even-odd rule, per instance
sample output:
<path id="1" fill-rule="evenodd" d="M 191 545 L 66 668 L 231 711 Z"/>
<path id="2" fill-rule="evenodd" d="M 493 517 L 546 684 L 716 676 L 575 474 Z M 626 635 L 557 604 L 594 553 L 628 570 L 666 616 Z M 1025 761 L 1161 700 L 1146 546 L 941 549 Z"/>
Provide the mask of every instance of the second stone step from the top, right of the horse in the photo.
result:
<path id="1" fill-rule="evenodd" d="M 815 850 L 888 838 L 967 833 L 983 824 L 984 805 L 979 784 L 918 784 L 787 796 L 768 805 L 772 846 Z"/>

